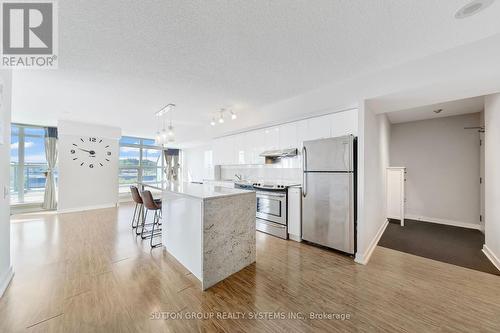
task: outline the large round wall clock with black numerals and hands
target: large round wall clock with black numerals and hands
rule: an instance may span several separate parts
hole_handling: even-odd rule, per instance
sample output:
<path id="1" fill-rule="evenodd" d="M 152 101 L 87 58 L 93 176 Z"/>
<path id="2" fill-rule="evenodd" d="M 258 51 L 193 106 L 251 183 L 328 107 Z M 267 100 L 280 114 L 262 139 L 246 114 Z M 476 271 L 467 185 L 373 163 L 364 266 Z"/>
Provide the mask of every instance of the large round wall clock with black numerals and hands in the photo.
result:
<path id="1" fill-rule="evenodd" d="M 73 143 L 70 154 L 73 161 L 90 169 L 101 168 L 111 161 L 109 143 L 96 137 L 80 138 L 80 141 Z"/>

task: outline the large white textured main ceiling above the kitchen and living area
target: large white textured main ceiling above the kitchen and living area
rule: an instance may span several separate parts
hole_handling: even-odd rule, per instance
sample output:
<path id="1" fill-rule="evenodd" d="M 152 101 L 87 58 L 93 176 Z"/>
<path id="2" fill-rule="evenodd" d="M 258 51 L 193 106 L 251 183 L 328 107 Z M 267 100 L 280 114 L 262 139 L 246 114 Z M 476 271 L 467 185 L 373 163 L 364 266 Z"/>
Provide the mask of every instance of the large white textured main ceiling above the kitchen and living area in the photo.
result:
<path id="1" fill-rule="evenodd" d="M 500 32 L 464 0 L 59 1 L 59 69 L 14 75 L 14 121 L 100 121 L 150 135 L 176 103 L 180 141 L 244 128 L 255 110 Z M 208 125 L 233 106 L 239 119 Z M 310 110 L 304 110 L 307 114 Z"/>

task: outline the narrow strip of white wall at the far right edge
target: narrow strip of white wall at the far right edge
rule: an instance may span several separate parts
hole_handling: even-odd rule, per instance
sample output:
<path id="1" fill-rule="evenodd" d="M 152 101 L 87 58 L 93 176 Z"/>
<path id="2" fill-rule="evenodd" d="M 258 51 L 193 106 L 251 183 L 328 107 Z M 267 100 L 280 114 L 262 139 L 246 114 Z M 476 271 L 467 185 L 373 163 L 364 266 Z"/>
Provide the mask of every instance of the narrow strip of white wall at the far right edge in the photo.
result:
<path id="1" fill-rule="evenodd" d="M 485 253 L 500 269 L 500 94 L 486 96 Z"/>

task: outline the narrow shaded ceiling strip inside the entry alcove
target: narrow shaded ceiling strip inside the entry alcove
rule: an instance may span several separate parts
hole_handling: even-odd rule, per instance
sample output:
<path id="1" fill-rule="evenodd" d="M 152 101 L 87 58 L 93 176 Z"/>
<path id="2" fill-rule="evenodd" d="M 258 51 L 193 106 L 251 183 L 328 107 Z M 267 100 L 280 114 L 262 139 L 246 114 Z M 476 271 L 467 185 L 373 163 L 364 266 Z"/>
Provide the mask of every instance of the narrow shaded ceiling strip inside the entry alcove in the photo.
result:
<path id="1" fill-rule="evenodd" d="M 442 109 L 440 113 L 434 110 Z M 406 123 L 410 121 L 458 116 L 467 113 L 477 113 L 484 110 L 484 97 L 466 98 L 457 101 L 421 106 L 418 108 L 395 111 L 387 113 L 393 124 Z"/>

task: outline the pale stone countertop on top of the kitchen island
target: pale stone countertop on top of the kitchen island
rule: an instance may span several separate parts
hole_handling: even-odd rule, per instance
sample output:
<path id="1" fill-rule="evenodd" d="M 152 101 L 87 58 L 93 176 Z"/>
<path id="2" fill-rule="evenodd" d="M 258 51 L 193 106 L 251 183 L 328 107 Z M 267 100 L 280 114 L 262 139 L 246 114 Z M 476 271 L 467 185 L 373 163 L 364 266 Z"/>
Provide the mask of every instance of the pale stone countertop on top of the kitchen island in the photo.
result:
<path id="1" fill-rule="evenodd" d="M 228 188 L 213 184 L 195 184 L 188 182 L 171 183 L 163 190 L 202 200 L 253 193 L 253 191 Z"/>

